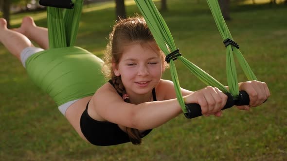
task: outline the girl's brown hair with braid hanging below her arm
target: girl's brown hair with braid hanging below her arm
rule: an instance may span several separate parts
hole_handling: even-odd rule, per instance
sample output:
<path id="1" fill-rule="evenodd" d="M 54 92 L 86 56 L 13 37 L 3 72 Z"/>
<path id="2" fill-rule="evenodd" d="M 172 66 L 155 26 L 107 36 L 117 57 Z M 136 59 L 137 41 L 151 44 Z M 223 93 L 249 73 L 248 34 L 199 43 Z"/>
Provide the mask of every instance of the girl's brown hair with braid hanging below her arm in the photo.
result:
<path id="1" fill-rule="evenodd" d="M 122 83 L 121 76 L 115 76 L 112 64 L 119 64 L 122 57 L 123 47 L 131 43 L 147 43 L 155 42 L 154 37 L 149 31 L 145 20 L 142 16 L 133 16 L 126 19 L 120 19 L 114 25 L 112 32 L 110 32 L 108 37 L 108 45 L 104 54 L 104 65 L 102 71 L 106 79 L 111 79 L 115 89 L 118 93 L 125 95 L 125 86 Z M 160 56 L 162 63 L 166 66 L 164 61 L 164 53 L 157 47 L 160 51 Z M 130 103 L 130 100 L 124 99 L 125 102 Z M 141 133 L 138 129 L 127 128 L 127 134 L 132 142 L 132 144 L 140 145 Z"/>

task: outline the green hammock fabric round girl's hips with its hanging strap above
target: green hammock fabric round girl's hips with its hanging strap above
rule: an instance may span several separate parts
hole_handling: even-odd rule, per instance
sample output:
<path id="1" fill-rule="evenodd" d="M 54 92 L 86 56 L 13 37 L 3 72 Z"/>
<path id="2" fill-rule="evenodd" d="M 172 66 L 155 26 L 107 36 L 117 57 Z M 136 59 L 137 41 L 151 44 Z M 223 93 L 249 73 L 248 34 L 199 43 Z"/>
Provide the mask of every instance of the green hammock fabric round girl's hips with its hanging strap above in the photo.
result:
<path id="1" fill-rule="evenodd" d="M 75 5 L 73 9 L 47 7 L 49 49 L 33 54 L 25 64 L 30 78 L 60 109 L 69 101 L 94 95 L 105 78 L 101 72 L 103 61 L 83 48 L 74 47 L 83 0 L 74 3 L 40 0 L 40 4 L 51 3 L 66 4 L 56 5 L 66 8 Z"/>

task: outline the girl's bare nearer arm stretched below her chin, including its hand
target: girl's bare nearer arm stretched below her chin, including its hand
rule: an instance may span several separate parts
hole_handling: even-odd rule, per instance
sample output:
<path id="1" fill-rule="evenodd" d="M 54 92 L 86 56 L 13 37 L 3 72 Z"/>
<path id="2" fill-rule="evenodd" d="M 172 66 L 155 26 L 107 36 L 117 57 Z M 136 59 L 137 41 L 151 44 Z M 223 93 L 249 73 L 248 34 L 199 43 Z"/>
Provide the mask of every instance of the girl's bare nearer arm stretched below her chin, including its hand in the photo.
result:
<path id="1" fill-rule="evenodd" d="M 192 92 L 184 98 L 186 103 L 200 104 L 202 113 L 207 115 L 218 113 L 227 99 L 226 95 L 212 87 Z M 182 113 L 177 99 L 138 105 L 126 103 L 110 84 L 98 89 L 91 105 L 100 120 L 140 130 L 157 128 Z"/>

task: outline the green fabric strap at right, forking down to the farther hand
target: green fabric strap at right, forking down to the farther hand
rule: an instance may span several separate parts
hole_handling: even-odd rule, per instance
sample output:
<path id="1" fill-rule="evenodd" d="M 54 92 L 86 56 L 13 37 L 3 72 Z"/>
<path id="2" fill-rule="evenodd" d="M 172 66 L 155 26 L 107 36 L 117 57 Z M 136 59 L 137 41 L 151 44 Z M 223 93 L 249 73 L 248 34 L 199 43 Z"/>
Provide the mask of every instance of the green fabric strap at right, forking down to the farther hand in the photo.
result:
<path id="1" fill-rule="evenodd" d="M 207 3 L 209 5 L 209 8 L 212 12 L 212 15 L 215 19 L 215 23 L 217 25 L 217 28 L 221 34 L 221 37 L 223 40 L 230 39 L 233 41 L 233 38 L 231 36 L 231 33 L 228 30 L 228 27 L 225 23 L 225 20 L 221 14 L 220 6 L 218 4 L 217 0 L 207 0 Z M 234 97 L 238 96 L 239 89 L 238 89 L 238 81 L 237 81 L 237 74 L 236 74 L 236 68 L 234 63 L 233 54 L 236 55 L 238 62 L 247 76 L 248 80 L 257 80 L 254 73 L 252 72 L 249 64 L 244 59 L 243 55 L 241 54 L 240 50 L 238 49 L 239 46 L 235 45 L 228 45 L 226 47 L 226 71 L 227 71 L 227 82 L 230 89 L 231 94 Z"/>

